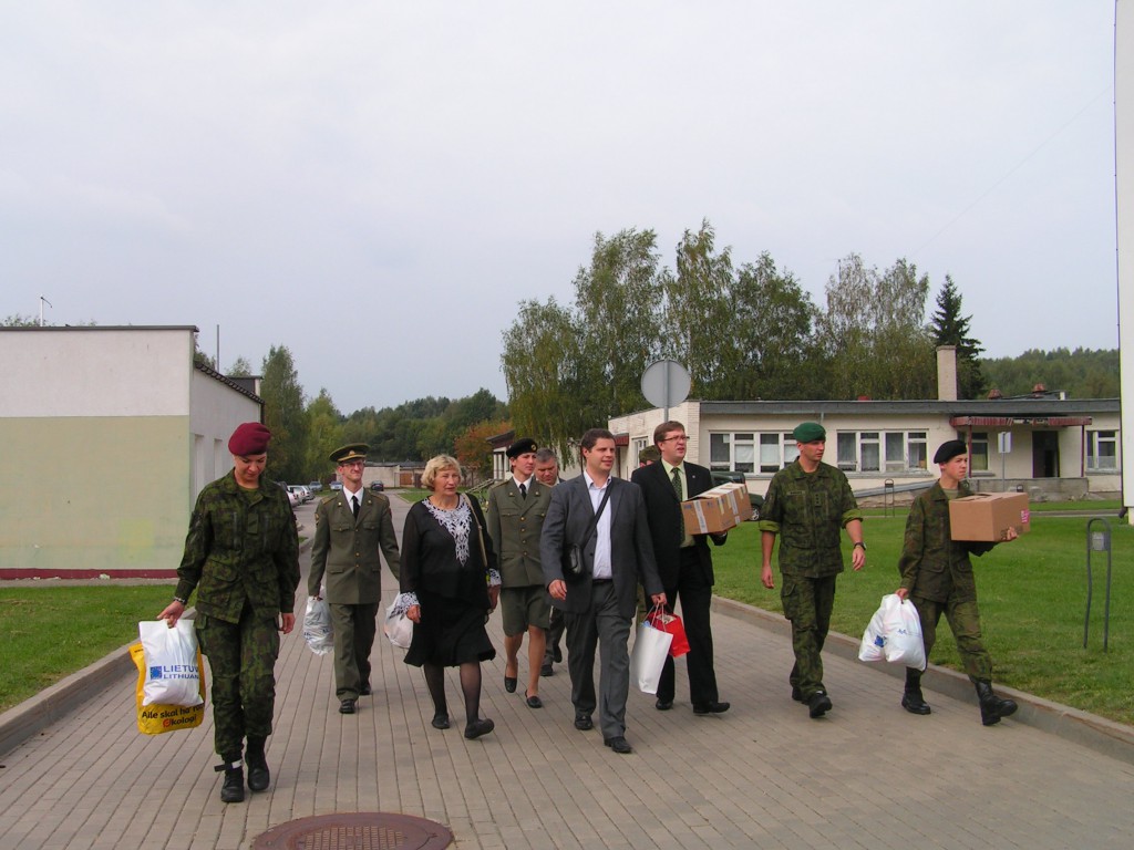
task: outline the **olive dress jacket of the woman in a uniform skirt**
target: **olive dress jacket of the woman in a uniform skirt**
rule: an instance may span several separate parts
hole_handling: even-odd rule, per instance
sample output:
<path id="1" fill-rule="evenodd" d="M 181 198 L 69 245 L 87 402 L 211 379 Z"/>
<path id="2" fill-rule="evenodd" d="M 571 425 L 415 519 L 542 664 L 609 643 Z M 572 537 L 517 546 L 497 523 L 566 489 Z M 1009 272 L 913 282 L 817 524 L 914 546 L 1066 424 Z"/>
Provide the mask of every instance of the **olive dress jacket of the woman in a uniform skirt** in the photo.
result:
<path id="1" fill-rule="evenodd" d="M 551 504 L 551 487 L 535 477 L 524 482 L 527 498 L 519 495 L 516 479 L 509 477 L 489 491 L 484 520 L 492 547 L 500 561 L 502 587 L 543 586 L 540 564 L 540 533 Z"/>

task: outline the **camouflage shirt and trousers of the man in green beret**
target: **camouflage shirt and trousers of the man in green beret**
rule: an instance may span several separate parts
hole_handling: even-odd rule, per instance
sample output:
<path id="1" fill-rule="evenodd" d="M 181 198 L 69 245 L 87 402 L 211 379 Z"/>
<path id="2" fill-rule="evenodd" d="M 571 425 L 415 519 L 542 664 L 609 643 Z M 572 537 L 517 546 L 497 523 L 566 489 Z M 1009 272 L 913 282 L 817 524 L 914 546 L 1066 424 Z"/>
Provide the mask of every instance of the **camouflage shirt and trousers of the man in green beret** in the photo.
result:
<path id="1" fill-rule="evenodd" d="M 824 690 L 820 653 L 843 572 L 840 533 L 855 519 L 862 511 L 847 477 L 828 464 L 805 473 L 798 460 L 776 473 L 760 509 L 760 530 L 779 535 L 780 600 L 795 651 L 790 681 L 804 702 Z"/>

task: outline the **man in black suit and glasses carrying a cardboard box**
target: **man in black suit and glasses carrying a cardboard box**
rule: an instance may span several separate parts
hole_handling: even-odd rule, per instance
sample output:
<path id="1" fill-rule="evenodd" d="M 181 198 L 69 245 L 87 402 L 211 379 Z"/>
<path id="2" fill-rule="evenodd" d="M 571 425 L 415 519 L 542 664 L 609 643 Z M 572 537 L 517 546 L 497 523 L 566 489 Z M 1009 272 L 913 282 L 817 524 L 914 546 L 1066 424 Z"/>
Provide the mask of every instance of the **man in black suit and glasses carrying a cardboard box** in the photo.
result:
<path id="1" fill-rule="evenodd" d="M 720 714 L 728 711 L 729 704 L 719 699 L 713 670 L 709 609 L 714 579 L 712 555 L 705 538 L 712 536 L 713 543 L 720 545 L 725 535 L 691 535 L 685 530 L 682 517 L 682 501 L 709 490 L 712 477 L 703 466 L 685 462 L 687 437 L 682 423 L 661 423 L 654 428 L 653 443 L 661 452 L 660 460 L 635 469 L 631 481 L 642 488 L 645 500 L 653 555 L 669 601 L 666 610 L 672 613 L 675 601 L 682 601 L 682 620 L 689 641 L 687 669 L 693 712 Z M 655 705 L 662 712 L 674 707 L 671 657 L 666 658 Z"/>

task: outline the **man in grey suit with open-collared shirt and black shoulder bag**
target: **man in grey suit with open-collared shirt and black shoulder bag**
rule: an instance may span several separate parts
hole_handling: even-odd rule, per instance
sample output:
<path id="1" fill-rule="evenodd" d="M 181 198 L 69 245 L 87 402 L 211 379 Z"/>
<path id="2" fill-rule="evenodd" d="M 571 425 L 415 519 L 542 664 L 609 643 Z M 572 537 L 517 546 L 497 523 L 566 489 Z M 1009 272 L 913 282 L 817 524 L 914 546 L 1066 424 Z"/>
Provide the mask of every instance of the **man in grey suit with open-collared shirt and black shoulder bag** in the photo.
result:
<path id="1" fill-rule="evenodd" d="M 540 560 L 551 604 L 567 621 L 567 669 L 570 672 L 575 728 L 592 729 L 599 709 L 603 742 L 615 753 L 632 753 L 626 741 L 629 694 L 627 643 L 641 581 L 654 604 L 666 594 L 653 560 L 642 491 L 611 476 L 615 436 L 591 428 L 581 441 L 583 474 L 551 491 L 543 521 Z M 603 498 L 608 498 L 602 505 Z M 594 530 L 587 534 L 599 513 Z M 564 575 L 562 554 L 576 545 L 583 552 L 579 576 Z M 599 699 L 594 691 L 594 651 L 601 643 Z"/>

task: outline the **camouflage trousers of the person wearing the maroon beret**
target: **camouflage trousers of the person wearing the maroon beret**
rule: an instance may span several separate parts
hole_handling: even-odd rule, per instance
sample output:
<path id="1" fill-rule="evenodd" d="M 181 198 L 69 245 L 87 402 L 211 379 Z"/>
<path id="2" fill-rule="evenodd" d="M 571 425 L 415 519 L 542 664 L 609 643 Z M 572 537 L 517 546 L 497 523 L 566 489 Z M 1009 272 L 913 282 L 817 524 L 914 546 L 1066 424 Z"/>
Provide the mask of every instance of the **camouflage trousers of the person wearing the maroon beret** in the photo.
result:
<path id="1" fill-rule="evenodd" d="M 257 617 L 245 605 L 236 623 L 197 614 L 196 631 L 212 674 L 213 742 L 222 759 L 235 762 L 246 737 L 272 733 L 280 653 L 276 618 Z"/>

